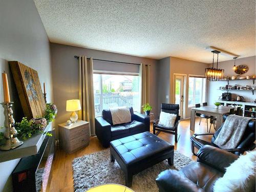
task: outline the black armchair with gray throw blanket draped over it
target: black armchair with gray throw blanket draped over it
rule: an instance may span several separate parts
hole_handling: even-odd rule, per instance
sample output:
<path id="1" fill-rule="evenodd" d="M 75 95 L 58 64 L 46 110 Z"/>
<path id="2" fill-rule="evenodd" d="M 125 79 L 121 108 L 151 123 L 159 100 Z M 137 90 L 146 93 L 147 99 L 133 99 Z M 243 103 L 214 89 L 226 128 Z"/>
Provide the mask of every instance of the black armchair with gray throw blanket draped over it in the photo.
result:
<path id="1" fill-rule="evenodd" d="M 224 121 L 226 120 L 227 116 L 228 116 L 228 114 L 225 114 L 223 116 Z M 216 145 L 214 143 L 214 141 L 218 137 L 218 135 L 222 129 L 222 126 L 223 126 L 223 124 L 218 129 L 218 131 L 216 131 L 215 133 L 201 133 L 201 134 L 194 134 L 193 136 L 191 136 L 190 140 L 191 140 L 192 153 L 194 155 L 196 155 L 195 147 L 200 149 L 204 145 L 211 145 L 211 146 L 215 146 L 215 147 L 219 148 L 219 146 Z M 202 135 L 212 135 L 211 142 L 197 138 L 198 136 L 202 136 Z M 243 154 L 247 150 L 252 150 L 255 147 L 254 141 L 255 141 L 255 119 L 251 119 L 246 127 L 244 136 L 241 139 L 241 142 L 239 143 L 239 145 L 236 148 L 225 148 L 223 150 L 234 153 L 236 155 L 240 155 L 240 154 Z"/>

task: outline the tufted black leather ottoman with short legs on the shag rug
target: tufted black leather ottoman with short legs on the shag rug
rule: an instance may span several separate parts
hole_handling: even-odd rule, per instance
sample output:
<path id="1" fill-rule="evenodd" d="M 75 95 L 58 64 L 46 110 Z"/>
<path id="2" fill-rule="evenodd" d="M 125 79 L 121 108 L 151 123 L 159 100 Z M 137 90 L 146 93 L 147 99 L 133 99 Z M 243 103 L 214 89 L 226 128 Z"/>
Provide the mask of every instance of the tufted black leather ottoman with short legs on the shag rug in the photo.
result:
<path id="1" fill-rule="evenodd" d="M 174 164 L 174 146 L 150 132 L 110 142 L 111 162 L 115 160 L 125 174 L 125 185 L 132 186 L 133 175 L 165 159 Z"/>

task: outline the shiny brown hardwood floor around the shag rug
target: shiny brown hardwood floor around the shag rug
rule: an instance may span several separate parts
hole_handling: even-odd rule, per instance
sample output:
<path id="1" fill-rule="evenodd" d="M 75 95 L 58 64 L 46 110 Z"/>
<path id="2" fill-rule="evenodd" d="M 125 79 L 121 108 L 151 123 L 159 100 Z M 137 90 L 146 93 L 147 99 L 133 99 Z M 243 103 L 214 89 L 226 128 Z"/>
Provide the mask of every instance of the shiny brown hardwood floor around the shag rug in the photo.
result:
<path id="1" fill-rule="evenodd" d="M 168 141 L 169 143 L 174 144 L 175 150 L 196 161 L 197 157 L 191 153 L 191 142 L 189 138 L 194 134 L 194 132 L 189 130 L 189 124 L 190 119 L 180 121 L 178 126 L 178 134 L 180 135 L 178 143 L 175 143 L 174 135 L 172 134 L 160 132 L 158 136 Z M 153 126 L 151 126 L 151 132 L 152 129 Z M 204 133 L 206 131 L 207 129 L 205 119 L 202 119 L 201 125 L 199 125 L 199 118 L 196 119 L 195 133 Z M 213 131 L 215 130 L 211 128 L 211 132 Z M 211 137 L 204 136 L 203 138 L 205 140 L 210 140 Z M 74 191 L 71 165 L 72 160 L 76 157 L 98 152 L 104 149 L 105 148 L 101 146 L 96 136 L 90 138 L 89 146 L 75 153 L 66 154 L 64 151 L 58 149 L 53 161 L 53 173 L 50 184 L 50 191 Z"/>

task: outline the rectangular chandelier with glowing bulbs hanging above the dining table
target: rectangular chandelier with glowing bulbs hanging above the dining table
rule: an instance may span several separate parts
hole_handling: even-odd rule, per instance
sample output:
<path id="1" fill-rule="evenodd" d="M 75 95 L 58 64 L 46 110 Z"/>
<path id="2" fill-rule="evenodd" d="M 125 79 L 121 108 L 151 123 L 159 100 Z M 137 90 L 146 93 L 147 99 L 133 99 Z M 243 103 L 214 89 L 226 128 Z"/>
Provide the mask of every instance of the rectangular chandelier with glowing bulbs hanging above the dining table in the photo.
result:
<path id="1" fill-rule="evenodd" d="M 212 57 L 212 67 L 205 69 L 205 77 L 210 81 L 219 81 L 224 77 L 224 69 L 218 69 L 219 53 L 220 51 L 214 50 Z M 217 54 L 217 68 L 214 68 L 214 54 Z"/>

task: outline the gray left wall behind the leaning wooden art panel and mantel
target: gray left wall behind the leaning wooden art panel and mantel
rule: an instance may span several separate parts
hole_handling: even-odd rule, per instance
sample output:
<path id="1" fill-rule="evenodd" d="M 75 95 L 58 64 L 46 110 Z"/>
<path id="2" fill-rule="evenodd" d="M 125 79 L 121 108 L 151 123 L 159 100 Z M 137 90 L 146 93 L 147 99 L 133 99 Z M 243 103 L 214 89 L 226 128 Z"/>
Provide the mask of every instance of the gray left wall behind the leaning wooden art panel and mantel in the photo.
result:
<path id="1" fill-rule="evenodd" d="M 0 1 L 0 71 L 7 72 L 11 100 L 14 101 L 14 117 L 18 120 L 23 112 L 8 66 L 9 60 L 18 60 L 37 70 L 40 83 L 46 82 L 47 99 L 52 100 L 50 45 L 32 0 Z M 1 77 L 0 102 L 4 101 L 2 85 Z M 0 114 L 0 126 L 3 126 L 6 118 L 2 105 Z M 15 159 L 0 163 L 0 191 L 12 190 L 9 176 L 18 161 L 19 159 Z"/>

